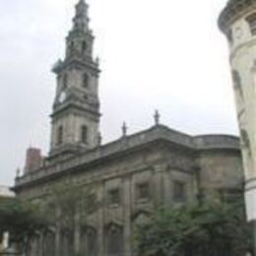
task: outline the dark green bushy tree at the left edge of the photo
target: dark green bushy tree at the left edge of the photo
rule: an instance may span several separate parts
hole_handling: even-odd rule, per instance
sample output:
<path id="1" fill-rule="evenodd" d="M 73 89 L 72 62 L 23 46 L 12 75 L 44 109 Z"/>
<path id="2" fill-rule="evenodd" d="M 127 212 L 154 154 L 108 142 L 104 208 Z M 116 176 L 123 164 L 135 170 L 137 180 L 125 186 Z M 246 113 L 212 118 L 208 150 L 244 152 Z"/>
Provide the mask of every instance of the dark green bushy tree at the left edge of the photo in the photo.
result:
<path id="1" fill-rule="evenodd" d="M 30 254 L 32 240 L 48 228 L 37 205 L 20 199 L 0 200 L 0 233 L 9 232 L 11 243 Z"/>

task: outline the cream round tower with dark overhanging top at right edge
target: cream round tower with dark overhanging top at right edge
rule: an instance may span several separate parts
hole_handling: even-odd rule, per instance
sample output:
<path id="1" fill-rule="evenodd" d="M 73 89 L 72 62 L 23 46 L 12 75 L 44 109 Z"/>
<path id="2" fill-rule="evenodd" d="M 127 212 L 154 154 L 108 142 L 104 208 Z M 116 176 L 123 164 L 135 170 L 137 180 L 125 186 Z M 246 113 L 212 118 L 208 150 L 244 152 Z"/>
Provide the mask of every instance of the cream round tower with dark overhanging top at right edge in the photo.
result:
<path id="1" fill-rule="evenodd" d="M 229 46 L 247 216 L 256 224 L 256 1 L 229 0 L 219 18 L 219 27 Z"/>

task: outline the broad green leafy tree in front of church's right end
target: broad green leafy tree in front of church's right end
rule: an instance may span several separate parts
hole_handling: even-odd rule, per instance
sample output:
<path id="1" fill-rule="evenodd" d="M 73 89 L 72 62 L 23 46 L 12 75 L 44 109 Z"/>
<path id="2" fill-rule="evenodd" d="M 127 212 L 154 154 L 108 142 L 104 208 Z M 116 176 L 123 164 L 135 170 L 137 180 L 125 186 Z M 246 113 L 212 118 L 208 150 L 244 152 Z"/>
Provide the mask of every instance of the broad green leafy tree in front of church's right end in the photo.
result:
<path id="1" fill-rule="evenodd" d="M 203 203 L 160 209 L 135 237 L 141 256 L 240 256 L 251 248 L 240 203 Z"/>

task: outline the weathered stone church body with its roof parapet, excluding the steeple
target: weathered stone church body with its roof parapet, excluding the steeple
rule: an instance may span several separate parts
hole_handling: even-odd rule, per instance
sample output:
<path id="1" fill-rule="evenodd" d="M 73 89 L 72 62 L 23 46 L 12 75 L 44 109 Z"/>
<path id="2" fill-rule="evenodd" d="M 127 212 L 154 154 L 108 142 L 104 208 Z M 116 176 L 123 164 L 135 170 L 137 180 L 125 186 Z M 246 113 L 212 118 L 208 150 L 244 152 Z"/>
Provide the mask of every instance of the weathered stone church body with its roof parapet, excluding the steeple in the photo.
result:
<path id="1" fill-rule="evenodd" d="M 157 125 L 80 156 L 49 162 L 18 178 L 16 192 L 36 201 L 60 182 L 96 184 L 96 197 L 103 204 L 90 219 L 98 245 L 95 255 L 133 255 L 133 226 L 147 220 L 156 206 L 193 202 L 199 193 L 242 189 L 239 142 L 231 136 L 190 137 Z M 118 198 L 111 203 L 113 191 Z M 116 231 L 123 246 L 114 253 L 107 241 Z"/>

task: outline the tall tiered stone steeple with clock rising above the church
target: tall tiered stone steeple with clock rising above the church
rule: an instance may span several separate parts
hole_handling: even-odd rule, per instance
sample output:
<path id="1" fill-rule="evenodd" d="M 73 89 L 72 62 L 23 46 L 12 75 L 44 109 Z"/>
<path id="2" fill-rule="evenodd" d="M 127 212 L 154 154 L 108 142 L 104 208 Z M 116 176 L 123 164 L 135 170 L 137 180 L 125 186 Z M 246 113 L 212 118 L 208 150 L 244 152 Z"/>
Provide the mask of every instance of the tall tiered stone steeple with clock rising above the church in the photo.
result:
<path id="1" fill-rule="evenodd" d="M 50 157 L 76 154 L 96 147 L 99 126 L 98 61 L 89 28 L 88 4 L 76 5 L 73 28 L 66 38 L 66 54 L 52 71 L 57 77 L 51 115 Z"/>

